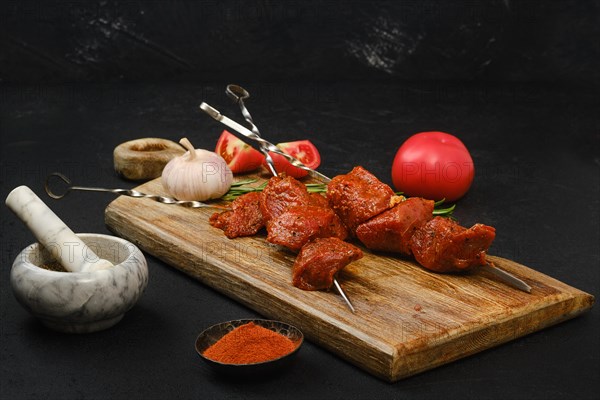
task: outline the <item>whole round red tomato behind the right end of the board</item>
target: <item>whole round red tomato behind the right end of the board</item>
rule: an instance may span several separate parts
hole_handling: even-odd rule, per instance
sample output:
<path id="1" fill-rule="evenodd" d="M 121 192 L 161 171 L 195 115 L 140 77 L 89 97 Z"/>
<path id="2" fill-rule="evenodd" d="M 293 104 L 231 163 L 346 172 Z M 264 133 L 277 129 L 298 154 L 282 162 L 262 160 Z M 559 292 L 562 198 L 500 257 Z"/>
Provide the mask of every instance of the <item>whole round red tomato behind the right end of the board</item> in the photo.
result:
<path id="1" fill-rule="evenodd" d="M 432 200 L 458 200 L 467 193 L 474 176 L 469 150 L 456 136 L 444 132 L 409 137 L 392 164 L 396 190 Z"/>

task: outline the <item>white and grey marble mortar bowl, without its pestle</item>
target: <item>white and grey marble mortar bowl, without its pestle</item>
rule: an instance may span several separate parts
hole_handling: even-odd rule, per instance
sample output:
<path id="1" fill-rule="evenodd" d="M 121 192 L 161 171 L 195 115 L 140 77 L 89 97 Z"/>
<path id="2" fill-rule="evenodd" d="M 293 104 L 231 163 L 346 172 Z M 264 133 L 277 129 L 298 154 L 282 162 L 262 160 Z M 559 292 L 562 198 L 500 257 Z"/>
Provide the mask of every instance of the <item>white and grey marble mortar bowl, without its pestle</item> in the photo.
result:
<path id="1" fill-rule="evenodd" d="M 109 235 L 77 234 L 88 251 L 114 264 L 90 272 L 58 272 L 40 268 L 52 261 L 39 243 L 15 259 L 10 282 L 19 303 L 47 327 L 69 333 L 95 332 L 119 322 L 148 284 L 148 266 L 132 243 Z M 90 251 L 91 250 L 91 251 Z"/>

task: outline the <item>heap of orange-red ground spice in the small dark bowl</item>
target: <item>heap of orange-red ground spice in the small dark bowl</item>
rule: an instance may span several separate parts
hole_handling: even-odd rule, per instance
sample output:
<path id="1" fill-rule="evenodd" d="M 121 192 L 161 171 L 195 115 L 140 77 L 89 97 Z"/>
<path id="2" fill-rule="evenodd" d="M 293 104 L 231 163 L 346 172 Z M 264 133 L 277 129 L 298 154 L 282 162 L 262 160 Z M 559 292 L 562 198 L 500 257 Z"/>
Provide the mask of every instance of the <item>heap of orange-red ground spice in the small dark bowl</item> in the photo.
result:
<path id="1" fill-rule="evenodd" d="M 284 356 L 295 347 L 289 338 L 249 322 L 227 333 L 202 354 L 226 364 L 253 364 Z"/>

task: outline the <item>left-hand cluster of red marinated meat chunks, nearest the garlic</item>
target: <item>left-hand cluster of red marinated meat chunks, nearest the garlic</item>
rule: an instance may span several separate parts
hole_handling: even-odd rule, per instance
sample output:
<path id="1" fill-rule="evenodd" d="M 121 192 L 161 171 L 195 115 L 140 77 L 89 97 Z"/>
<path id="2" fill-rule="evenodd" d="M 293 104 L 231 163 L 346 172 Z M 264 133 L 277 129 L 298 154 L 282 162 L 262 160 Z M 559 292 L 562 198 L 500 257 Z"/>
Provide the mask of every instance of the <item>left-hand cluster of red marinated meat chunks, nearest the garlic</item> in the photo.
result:
<path id="1" fill-rule="evenodd" d="M 331 288 L 336 274 L 362 257 L 358 247 L 344 242 L 348 230 L 327 198 L 308 193 L 292 177 L 272 177 L 262 193 L 238 197 L 231 211 L 213 214 L 210 223 L 229 238 L 253 235 L 266 225 L 267 241 L 300 251 L 292 284 L 304 290 Z"/>

